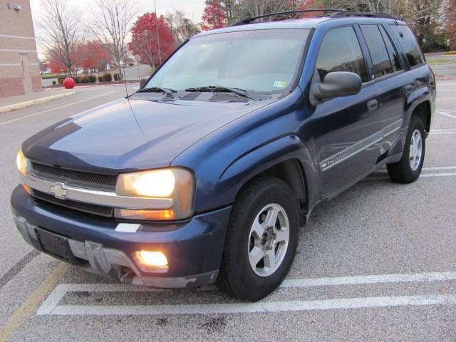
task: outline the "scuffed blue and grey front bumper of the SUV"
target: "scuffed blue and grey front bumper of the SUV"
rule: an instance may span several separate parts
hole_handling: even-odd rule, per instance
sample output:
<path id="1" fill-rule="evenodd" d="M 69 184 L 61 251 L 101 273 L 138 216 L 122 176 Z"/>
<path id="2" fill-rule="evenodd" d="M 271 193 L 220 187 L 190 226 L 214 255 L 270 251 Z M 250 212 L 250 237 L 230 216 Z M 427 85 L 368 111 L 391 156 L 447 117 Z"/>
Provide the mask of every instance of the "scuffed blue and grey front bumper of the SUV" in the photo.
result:
<path id="1" fill-rule="evenodd" d="M 68 239 L 74 264 L 110 279 L 160 288 L 215 281 L 231 212 L 226 207 L 185 222 L 147 222 L 137 224 L 136 232 L 120 232 L 116 228 L 121 222 L 115 219 L 38 205 L 21 186 L 11 196 L 11 207 L 16 227 L 36 249 L 43 251 L 35 232 L 39 227 Z M 167 270 L 142 268 L 133 257 L 142 249 L 165 252 Z"/>

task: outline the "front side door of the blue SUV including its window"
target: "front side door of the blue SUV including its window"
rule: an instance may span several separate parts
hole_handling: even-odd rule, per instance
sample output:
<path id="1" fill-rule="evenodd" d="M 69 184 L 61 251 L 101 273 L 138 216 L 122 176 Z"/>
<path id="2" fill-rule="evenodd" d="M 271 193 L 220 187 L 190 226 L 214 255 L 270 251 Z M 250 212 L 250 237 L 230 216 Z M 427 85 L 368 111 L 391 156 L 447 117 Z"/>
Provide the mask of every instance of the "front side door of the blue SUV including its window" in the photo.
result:
<path id="1" fill-rule="evenodd" d="M 331 197 L 372 170 L 382 135 L 378 133 L 377 93 L 355 28 L 333 28 L 320 45 L 313 82 L 322 81 L 331 71 L 358 73 L 363 81 L 360 93 L 320 102 L 311 113 L 320 195 Z"/>

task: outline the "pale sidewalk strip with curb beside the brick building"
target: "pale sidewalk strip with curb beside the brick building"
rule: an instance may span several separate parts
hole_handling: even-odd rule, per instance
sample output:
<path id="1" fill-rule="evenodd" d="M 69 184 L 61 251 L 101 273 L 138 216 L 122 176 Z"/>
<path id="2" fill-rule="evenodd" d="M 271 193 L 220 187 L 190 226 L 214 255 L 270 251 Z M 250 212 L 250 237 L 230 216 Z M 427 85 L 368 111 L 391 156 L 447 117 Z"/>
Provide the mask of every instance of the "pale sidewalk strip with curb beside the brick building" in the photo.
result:
<path id="1" fill-rule="evenodd" d="M 0 113 L 9 112 L 10 110 L 17 110 L 26 108 L 37 103 L 44 103 L 58 98 L 75 95 L 76 91 L 73 89 L 59 89 L 52 92 L 40 91 L 38 93 L 31 93 L 27 95 L 10 96 L 7 98 L 0 98 Z"/>

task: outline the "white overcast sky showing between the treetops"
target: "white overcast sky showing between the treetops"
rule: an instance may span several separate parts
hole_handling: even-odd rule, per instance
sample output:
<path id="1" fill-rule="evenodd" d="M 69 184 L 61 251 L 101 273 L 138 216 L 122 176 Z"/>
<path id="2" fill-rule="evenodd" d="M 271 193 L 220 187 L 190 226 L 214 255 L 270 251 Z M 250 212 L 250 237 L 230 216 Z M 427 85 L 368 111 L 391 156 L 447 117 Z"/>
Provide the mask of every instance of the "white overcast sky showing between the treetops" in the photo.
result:
<path id="1" fill-rule="evenodd" d="M 90 13 L 93 9 L 93 0 L 65 0 L 71 2 L 78 11 L 81 13 L 81 21 L 87 21 L 90 18 Z M 157 3 L 157 14 L 165 15 L 168 11 L 172 9 L 182 9 L 185 12 L 188 18 L 199 23 L 201 21 L 202 12 L 204 11 L 204 0 L 155 0 Z M 136 0 L 139 15 L 144 14 L 145 12 L 154 11 L 154 1 L 153 0 Z M 37 24 L 41 20 L 41 15 L 43 13 L 43 1 L 42 0 L 30 0 L 31 11 L 33 16 L 33 24 L 35 26 L 36 35 L 39 36 L 39 30 Z M 85 23 L 84 23 L 85 24 Z M 43 48 L 41 48 L 39 41 L 38 44 L 38 54 L 40 57 L 43 57 Z"/>

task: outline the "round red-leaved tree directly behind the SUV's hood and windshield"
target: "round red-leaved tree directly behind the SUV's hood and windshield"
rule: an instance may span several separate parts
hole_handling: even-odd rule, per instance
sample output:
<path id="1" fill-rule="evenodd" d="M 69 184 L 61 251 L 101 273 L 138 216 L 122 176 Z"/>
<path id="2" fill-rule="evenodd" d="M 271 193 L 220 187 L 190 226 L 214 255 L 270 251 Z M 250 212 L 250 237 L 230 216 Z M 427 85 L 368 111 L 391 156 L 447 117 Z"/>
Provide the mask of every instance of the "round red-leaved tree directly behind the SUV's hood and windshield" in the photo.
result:
<path id="1" fill-rule="evenodd" d="M 174 50 L 174 38 L 164 16 L 158 20 L 152 12 L 139 16 L 133 24 L 131 35 L 128 47 L 133 55 L 140 56 L 141 63 L 149 64 L 152 68 L 158 68 Z"/>

